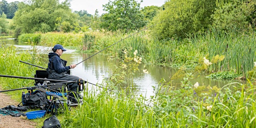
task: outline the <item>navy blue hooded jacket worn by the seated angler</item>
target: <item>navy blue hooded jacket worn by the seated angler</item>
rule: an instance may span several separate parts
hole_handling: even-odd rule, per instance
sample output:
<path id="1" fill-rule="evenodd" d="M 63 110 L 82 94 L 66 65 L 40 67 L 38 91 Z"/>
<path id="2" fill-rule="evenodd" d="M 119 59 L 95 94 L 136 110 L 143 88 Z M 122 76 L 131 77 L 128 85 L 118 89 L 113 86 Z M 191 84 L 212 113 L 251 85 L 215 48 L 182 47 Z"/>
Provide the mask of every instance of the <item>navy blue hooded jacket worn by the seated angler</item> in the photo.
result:
<path id="1" fill-rule="evenodd" d="M 56 71 L 57 73 L 62 73 L 70 69 L 70 66 L 66 66 L 66 60 L 63 60 L 59 57 L 57 53 L 50 52 L 48 54 L 49 62 L 48 68 Z M 51 66 L 52 64 L 52 66 Z"/>

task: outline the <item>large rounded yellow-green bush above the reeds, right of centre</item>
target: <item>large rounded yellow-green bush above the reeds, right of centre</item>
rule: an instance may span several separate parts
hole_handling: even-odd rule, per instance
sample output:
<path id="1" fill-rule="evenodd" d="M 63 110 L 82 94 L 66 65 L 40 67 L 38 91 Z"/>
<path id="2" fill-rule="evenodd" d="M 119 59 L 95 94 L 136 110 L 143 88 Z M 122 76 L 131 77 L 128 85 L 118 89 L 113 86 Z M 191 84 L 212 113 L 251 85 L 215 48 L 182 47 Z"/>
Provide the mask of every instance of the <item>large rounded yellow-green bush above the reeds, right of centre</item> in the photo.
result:
<path id="1" fill-rule="evenodd" d="M 154 17 L 152 35 L 158 39 L 184 38 L 189 33 L 206 30 L 211 24 L 210 15 L 214 0 L 169 0 L 164 10 Z"/>

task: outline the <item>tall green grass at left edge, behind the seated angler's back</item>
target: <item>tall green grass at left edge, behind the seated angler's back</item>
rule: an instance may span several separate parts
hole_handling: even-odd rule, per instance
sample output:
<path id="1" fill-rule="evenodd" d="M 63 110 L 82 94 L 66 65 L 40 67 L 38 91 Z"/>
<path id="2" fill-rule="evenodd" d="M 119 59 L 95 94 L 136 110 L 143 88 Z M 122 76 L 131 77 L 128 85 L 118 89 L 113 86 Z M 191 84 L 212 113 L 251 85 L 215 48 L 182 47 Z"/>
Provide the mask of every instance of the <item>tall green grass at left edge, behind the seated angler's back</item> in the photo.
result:
<path id="1" fill-rule="evenodd" d="M 30 52 L 31 51 L 18 51 L 13 45 L 0 43 L 0 74 L 34 77 L 34 73 L 37 67 L 19 62 L 19 60 L 23 60 L 35 65 L 41 65 L 40 55 L 30 54 Z M 33 86 L 34 83 L 34 81 L 30 79 L 8 77 L 0 77 L 0 80 L 0 86 L 2 90 Z M 16 92 L 17 91 L 11 91 L 10 93 Z M 18 92 L 21 94 L 21 91 Z"/>

